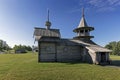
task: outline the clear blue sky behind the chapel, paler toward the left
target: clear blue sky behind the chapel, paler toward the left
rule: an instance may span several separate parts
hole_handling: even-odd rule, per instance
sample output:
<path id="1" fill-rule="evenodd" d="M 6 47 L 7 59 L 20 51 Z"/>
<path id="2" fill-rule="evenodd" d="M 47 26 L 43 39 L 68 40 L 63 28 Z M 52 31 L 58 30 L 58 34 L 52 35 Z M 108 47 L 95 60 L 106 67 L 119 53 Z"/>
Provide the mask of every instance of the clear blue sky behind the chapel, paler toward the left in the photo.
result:
<path id="1" fill-rule="evenodd" d="M 0 0 L 0 39 L 10 46 L 34 45 L 34 27 L 45 28 L 47 9 L 51 28 L 60 29 L 63 38 L 73 38 L 85 8 L 92 39 L 104 46 L 120 40 L 120 0 Z"/>

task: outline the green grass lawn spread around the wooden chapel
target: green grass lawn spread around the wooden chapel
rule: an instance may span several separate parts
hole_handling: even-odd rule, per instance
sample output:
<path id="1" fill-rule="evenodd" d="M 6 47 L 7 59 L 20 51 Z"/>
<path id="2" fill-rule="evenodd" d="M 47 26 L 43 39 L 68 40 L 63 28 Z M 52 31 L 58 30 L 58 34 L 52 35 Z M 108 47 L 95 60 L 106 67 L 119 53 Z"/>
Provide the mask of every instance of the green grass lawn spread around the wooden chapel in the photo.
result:
<path id="1" fill-rule="evenodd" d="M 119 59 L 120 56 L 111 56 Z M 119 67 L 38 63 L 37 54 L 0 54 L 0 80 L 120 80 Z"/>

